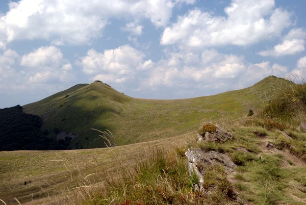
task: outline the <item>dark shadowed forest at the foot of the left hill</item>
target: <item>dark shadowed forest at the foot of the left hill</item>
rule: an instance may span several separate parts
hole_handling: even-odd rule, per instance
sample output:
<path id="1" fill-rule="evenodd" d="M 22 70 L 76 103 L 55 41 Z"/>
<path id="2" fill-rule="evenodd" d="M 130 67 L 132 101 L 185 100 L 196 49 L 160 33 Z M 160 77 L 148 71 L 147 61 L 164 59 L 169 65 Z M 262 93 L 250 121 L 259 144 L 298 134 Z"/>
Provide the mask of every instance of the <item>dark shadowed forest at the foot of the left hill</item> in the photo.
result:
<path id="1" fill-rule="evenodd" d="M 66 149 L 65 141 L 48 138 L 37 115 L 22 113 L 21 106 L 0 109 L 0 151 Z"/>

